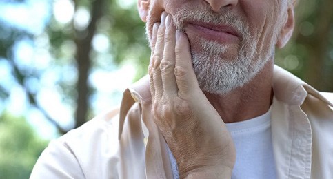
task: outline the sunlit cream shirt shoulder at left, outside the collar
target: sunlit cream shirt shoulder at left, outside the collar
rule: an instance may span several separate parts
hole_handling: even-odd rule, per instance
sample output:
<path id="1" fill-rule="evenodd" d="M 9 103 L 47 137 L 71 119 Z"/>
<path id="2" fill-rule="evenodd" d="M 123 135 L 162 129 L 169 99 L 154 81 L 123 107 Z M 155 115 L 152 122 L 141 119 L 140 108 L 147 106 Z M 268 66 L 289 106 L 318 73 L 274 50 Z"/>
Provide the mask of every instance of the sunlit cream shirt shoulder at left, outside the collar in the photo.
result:
<path id="1" fill-rule="evenodd" d="M 93 178 L 112 172 L 114 169 L 105 169 L 110 160 L 105 155 L 114 157 L 118 152 L 117 115 L 112 113 L 99 115 L 52 140 L 37 160 L 31 178 Z"/>

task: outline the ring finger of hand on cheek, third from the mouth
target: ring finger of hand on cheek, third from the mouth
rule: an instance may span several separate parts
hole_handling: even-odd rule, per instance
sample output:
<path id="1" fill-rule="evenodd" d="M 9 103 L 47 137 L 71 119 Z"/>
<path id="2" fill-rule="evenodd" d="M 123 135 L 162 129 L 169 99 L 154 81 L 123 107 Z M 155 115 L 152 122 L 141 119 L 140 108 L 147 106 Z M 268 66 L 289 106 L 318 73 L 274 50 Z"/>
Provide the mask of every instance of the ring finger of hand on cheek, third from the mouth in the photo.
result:
<path id="1" fill-rule="evenodd" d="M 161 64 L 161 60 L 163 58 L 165 17 L 166 12 L 163 12 L 161 16 L 161 25 L 159 25 L 159 30 L 157 32 L 157 41 L 154 48 L 154 54 L 152 55 L 152 77 L 154 80 L 155 99 L 161 98 L 163 94 L 163 83 L 159 65 Z"/>

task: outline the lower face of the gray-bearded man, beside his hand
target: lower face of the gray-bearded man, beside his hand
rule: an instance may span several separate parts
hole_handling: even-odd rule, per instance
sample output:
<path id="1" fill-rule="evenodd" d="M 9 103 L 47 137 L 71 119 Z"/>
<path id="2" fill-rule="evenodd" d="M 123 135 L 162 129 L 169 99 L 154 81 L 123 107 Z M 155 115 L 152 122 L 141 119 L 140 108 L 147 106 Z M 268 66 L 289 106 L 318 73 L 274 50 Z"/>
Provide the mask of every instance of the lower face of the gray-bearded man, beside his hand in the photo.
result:
<path id="1" fill-rule="evenodd" d="M 214 12 L 214 1 L 224 0 L 150 0 L 147 33 L 163 10 L 171 14 L 176 28 L 188 35 L 201 89 L 226 94 L 248 83 L 272 58 L 286 4 L 230 0 Z"/>

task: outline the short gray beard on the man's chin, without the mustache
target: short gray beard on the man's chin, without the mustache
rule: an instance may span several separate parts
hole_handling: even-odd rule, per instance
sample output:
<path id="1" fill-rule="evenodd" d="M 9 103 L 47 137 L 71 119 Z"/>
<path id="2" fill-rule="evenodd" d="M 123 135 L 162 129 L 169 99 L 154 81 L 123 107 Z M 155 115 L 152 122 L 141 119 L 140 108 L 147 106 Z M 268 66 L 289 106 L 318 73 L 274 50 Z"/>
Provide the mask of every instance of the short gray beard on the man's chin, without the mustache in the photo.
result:
<path id="1" fill-rule="evenodd" d="M 203 49 L 210 47 L 210 45 L 205 44 L 201 43 Z M 214 45 L 216 45 L 215 48 L 218 45 L 223 46 L 221 44 Z M 226 50 L 223 47 L 220 49 Z M 274 48 L 270 48 L 270 52 L 262 54 L 258 61 L 250 60 L 256 56 L 255 49 L 254 43 L 250 43 L 248 48 L 242 48 L 236 59 L 231 61 L 223 59 L 221 54 L 191 51 L 193 68 L 199 87 L 203 92 L 221 95 L 228 94 L 228 92 L 249 83 L 263 69 L 270 59 L 270 55 L 274 52 Z"/>

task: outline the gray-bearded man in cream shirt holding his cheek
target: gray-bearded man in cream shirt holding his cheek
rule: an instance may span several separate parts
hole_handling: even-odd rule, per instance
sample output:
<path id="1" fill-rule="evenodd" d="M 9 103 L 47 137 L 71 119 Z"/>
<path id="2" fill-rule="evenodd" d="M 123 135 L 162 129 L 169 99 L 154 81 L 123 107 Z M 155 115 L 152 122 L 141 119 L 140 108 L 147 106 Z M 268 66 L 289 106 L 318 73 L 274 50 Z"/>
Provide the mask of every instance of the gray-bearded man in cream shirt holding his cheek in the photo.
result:
<path id="1" fill-rule="evenodd" d="M 294 3 L 139 0 L 149 76 L 119 115 L 52 141 L 31 178 L 333 178 L 332 94 L 274 66 Z"/>

